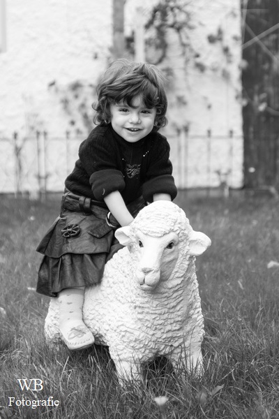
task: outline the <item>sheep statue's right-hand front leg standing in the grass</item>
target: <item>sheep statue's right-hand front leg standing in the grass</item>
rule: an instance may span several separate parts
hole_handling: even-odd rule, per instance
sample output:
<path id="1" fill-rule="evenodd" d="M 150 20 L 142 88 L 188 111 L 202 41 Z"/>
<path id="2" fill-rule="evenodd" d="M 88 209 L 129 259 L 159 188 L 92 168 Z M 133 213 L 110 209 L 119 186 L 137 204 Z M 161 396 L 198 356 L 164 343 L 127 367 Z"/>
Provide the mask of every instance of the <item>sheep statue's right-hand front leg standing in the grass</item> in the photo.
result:
<path id="1" fill-rule="evenodd" d="M 186 348 L 186 346 L 180 346 L 179 348 L 176 348 L 168 358 L 172 362 L 176 372 L 179 372 L 181 367 L 186 367 L 190 374 L 195 374 L 195 376 L 202 376 L 203 374 L 204 369 L 200 345 L 191 345 L 188 348 Z"/>

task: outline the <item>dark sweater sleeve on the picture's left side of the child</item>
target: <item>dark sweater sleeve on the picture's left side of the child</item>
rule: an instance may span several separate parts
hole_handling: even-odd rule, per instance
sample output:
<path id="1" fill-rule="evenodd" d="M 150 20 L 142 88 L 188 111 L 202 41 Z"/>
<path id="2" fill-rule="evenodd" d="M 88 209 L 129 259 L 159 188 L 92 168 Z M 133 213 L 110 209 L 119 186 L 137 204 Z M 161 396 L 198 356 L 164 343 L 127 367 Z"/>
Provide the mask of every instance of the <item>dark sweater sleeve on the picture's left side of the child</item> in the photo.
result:
<path id="1" fill-rule="evenodd" d="M 113 191 L 123 191 L 125 181 L 117 168 L 114 142 L 106 135 L 89 135 L 79 150 L 80 161 L 89 175 L 89 183 L 97 200 L 103 200 Z"/>

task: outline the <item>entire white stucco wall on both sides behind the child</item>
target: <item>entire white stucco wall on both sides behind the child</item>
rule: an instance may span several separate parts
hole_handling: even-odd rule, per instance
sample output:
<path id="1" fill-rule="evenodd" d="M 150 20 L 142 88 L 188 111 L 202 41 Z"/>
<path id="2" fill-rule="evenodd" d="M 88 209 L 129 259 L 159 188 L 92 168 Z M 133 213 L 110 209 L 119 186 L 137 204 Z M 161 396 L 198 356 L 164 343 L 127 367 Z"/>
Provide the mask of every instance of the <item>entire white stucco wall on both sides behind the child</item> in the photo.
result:
<path id="1" fill-rule="evenodd" d="M 145 20 L 156 1 L 140 2 Z M 126 35 L 135 28 L 138 6 L 137 0 L 126 0 Z M 164 133 L 172 149 L 174 177 L 180 187 L 218 186 L 216 170 L 221 170 L 228 173 L 230 186 L 239 187 L 243 182 L 239 0 L 195 0 L 188 3 L 188 10 L 188 36 L 199 57 L 190 50 L 188 57 L 183 56 L 175 32 L 169 30 L 167 55 L 159 64 L 173 73 Z M 38 166 L 41 175 L 47 175 L 47 186 L 61 190 L 86 135 L 75 94 L 82 96 L 88 129 L 93 87 L 110 59 L 112 0 L 6 0 L 6 15 L 7 48 L 0 54 L 0 138 L 9 141 L 1 142 L 0 191 L 13 191 L 16 184 L 29 191 L 38 189 Z M 222 39 L 209 42 L 220 29 Z M 224 48 L 229 53 L 224 54 Z M 83 86 L 69 92 L 77 80 Z M 42 137 L 40 144 L 35 137 L 25 142 L 18 182 L 11 138 L 17 132 L 20 147 L 37 130 L 52 138 L 47 157 L 38 157 L 37 145 L 40 151 L 45 147 Z M 64 140 L 54 140 L 65 138 L 66 131 L 72 139 L 68 146 Z M 233 131 L 230 137 L 229 131 Z"/>

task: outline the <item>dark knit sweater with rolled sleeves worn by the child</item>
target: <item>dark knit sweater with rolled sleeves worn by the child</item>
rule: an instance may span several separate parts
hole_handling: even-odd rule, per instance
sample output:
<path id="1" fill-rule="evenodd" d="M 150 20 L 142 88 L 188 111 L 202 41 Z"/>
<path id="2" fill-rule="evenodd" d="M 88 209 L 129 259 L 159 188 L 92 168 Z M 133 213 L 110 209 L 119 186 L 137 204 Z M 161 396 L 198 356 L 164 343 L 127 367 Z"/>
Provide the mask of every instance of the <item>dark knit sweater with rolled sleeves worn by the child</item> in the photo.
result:
<path id="1" fill-rule="evenodd" d="M 100 202 L 119 191 L 126 204 L 141 195 L 152 202 L 154 193 L 169 193 L 172 199 L 177 193 L 167 139 L 151 132 L 130 143 L 116 134 L 111 124 L 96 126 L 82 142 L 65 185 L 77 195 Z"/>

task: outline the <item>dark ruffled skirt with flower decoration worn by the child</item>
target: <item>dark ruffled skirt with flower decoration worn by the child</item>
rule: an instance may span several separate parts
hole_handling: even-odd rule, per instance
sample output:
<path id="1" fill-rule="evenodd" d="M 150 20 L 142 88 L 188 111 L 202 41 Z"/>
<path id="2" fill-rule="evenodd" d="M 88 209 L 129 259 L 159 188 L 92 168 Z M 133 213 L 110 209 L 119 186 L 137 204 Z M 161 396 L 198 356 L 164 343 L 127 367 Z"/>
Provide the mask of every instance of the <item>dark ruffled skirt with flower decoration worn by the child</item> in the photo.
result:
<path id="1" fill-rule="evenodd" d="M 144 205 L 140 203 L 136 212 Z M 37 248 L 44 255 L 38 293 L 56 297 L 65 288 L 100 283 L 105 263 L 123 247 L 106 222 L 107 212 L 96 206 L 90 214 L 62 208 Z"/>

